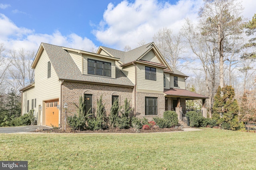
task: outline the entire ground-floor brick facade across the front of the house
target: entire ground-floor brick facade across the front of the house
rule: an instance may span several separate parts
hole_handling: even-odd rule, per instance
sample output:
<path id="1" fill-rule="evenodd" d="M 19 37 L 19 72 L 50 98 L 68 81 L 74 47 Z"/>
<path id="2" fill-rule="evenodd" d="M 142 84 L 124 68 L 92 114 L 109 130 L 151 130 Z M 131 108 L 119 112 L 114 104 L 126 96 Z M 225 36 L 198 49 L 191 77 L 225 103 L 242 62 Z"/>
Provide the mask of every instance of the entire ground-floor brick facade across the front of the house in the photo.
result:
<path id="1" fill-rule="evenodd" d="M 84 94 L 92 94 L 92 113 L 96 114 L 97 99 L 102 95 L 103 104 L 105 104 L 106 115 L 110 114 L 112 106 L 112 96 L 119 96 L 120 106 L 124 105 L 124 100 L 127 98 L 130 100 L 130 106 L 134 108 L 134 88 L 120 87 L 120 86 L 106 86 L 100 84 L 87 84 L 79 82 L 64 82 L 62 85 L 62 104 L 65 102 L 68 104 L 67 116 L 77 114 L 77 107 L 79 104 L 79 97 L 84 97 Z M 158 98 L 157 115 L 145 115 L 145 97 Z M 149 121 L 153 117 L 163 117 L 165 111 L 165 97 L 164 94 L 144 93 L 136 92 L 136 117 L 146 117 Z M 75 105 L 76 104 L 76 105 Z M 180 98 L 180 104 L 182 110 L 186 108 L 186 99 Z M 174 110 L 173 99 L 168 98 L 167 103 L 168 110 Z M 133 116 L 131 113 L 130 116 Z M 62 113 L 62 126 L 64 125 L 65 112 Z"/>

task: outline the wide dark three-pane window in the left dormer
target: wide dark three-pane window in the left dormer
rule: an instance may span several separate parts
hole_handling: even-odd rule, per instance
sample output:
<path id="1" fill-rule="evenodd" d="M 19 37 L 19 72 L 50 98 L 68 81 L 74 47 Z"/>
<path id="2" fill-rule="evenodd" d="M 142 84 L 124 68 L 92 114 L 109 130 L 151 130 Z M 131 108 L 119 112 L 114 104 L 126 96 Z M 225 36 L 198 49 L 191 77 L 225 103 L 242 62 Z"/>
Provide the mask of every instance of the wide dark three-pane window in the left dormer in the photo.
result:
<path id="1" fill-rule="evenodd" d="M 111 63 L 88 59 L 88 74 L 111 77 Z"/>

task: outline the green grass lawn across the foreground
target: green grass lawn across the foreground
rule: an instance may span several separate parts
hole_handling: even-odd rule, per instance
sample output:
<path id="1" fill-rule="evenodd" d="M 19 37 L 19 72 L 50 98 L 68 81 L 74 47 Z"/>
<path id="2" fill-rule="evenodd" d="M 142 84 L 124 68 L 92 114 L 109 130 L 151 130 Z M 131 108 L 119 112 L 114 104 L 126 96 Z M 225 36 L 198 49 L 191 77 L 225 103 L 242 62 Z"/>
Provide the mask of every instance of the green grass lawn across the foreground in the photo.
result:
<path id="1" fill-rule="evenodd" d="M 256 169 L 256 133 L 0 134 L 0 160 L 29 169 Z"/>

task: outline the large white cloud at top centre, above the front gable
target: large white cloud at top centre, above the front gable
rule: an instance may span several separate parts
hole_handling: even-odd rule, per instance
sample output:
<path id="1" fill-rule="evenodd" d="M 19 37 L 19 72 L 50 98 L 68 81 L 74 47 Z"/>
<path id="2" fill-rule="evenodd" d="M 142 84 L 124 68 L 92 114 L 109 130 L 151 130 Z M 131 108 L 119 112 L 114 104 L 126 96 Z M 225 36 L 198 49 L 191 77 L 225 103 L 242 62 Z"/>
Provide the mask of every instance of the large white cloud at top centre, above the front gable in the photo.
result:
<path id="1" fill-rule="evenodd" d="M 125 45 L 136 47 L 144 39 L 152 37 L 162 27 L 171 28 L 174 33 L 182 27 L 184 18 L 197 20 L 202 0 L 180 0 L 176 4 L 162 3 L 157 0 L 124 0 L 117 6 L 108 4 L 100 28 L 93 33 L 104 45 L 118 49 Z"/>

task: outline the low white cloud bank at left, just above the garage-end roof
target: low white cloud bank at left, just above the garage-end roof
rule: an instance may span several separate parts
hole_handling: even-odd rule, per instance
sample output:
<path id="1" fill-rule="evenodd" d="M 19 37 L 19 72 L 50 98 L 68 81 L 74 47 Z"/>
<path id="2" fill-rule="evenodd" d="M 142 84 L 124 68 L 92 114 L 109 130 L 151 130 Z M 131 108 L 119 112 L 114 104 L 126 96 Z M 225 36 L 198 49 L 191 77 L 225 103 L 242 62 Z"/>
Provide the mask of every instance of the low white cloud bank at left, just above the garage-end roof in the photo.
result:
<path id="1" fill-rule="evenodd" d="M 4 43 L 7 50 L 24 48 L 37 51 L 41 42 L 86 51 L 97 48 L 87 37 L 75 33 L 64 36 L 58 30 L 52 34 L 35 33 L 31 29 L 17 27 L 9 18 L 0 14 L 0 43 Z"/>

